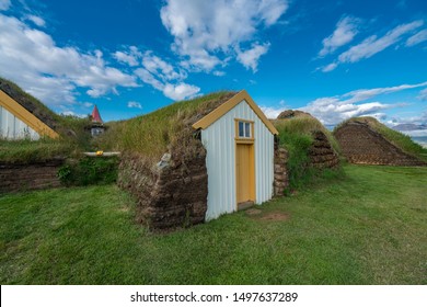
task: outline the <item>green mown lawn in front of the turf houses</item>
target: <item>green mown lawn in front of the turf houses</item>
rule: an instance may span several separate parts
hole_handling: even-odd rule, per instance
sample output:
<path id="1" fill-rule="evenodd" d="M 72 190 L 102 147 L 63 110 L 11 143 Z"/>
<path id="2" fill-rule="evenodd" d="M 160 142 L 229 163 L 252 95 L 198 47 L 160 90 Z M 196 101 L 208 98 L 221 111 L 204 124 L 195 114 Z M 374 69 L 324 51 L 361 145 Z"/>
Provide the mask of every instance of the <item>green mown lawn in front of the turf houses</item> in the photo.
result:
<path id="1" fill-rule="evenodd" d="M 0 196 L 1 284 L 426 284 L 427 168 L 347 177 L 173 234 L 116 186 Z"/>

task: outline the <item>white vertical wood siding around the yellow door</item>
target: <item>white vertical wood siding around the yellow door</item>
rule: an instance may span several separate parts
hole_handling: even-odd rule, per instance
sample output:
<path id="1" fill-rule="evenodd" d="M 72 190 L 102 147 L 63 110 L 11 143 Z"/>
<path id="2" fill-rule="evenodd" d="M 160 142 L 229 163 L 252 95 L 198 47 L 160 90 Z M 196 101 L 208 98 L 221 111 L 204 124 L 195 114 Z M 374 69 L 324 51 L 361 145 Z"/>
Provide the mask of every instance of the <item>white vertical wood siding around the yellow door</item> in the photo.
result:
<path id="1" fill-rule="evenodd" d="M 207 220 L 236 209 L 234 118 L 254 122 L 255 203 L 261 204 L 273 196 L 274 136 L 247 103 L 242 101 L 201 132 L 201 141 L 207 150 Z"/>

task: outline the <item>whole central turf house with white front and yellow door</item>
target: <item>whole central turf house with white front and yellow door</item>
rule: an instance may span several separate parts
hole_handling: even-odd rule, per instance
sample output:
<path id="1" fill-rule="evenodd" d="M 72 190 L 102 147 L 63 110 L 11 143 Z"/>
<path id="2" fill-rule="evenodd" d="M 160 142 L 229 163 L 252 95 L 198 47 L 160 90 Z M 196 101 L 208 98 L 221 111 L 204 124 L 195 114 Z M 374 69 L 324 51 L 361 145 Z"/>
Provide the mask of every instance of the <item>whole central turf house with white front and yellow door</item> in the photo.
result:
<path id="1" fill-rule="evenodd" d="M 103 137 L 123 151 L 118 184 L 137 196 L 138 219 L 163 229 L 270 200 L 276 135 L 241 91 L 174 103 L 115 123 Z"/>

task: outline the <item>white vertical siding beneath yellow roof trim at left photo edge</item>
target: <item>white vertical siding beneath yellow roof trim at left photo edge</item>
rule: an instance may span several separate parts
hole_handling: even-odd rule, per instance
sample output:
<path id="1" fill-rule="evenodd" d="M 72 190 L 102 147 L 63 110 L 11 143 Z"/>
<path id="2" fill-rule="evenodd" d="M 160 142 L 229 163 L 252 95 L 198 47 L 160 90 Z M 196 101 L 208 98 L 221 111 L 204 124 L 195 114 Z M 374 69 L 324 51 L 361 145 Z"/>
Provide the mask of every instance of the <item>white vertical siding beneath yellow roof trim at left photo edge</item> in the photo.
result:
<path id="1" fill-rule="evenodd" d="M 39 138 L 39 135 L 8 110 L 0 106 L 0 137 L 8 139 L 30 137 L 36 140 Z"/>

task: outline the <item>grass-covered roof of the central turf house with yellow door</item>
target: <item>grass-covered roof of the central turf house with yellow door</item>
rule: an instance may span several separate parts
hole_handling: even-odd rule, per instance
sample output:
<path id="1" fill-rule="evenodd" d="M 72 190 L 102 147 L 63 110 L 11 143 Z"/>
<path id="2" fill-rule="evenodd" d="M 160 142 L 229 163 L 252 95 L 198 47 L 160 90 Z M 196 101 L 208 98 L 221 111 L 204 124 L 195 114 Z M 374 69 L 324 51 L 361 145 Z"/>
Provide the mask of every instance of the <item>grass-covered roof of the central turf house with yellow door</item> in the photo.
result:
<path id="1" fill-rule="evenodd" d="M 195 133 L 192 125 L 228 101 L 234 92 L 217 92 L 188 101 L 173 103 L 147 115 L 108 124 L 99 137 L 104 150 L 139 154 L 157 162 L 171 147 L 188 146 Z"/>

